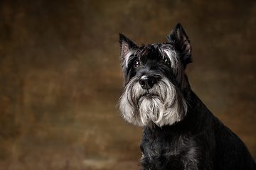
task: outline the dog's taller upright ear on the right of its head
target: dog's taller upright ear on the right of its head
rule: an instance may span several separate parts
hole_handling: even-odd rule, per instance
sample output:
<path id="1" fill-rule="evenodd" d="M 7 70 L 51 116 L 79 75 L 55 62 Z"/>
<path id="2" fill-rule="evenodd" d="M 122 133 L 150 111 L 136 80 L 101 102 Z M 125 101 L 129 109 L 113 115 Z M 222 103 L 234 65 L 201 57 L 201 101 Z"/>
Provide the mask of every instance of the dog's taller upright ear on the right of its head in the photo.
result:
<path id="1" fill-rule="evenodd" d="M 181 23 L 177 23 L 175 28 L 171 31 L 169 35 L 166 35 L 168 42 L 171 42 L 176 49 L 181 52 L 184 67 L 186 64 L 192 62 L 191 59 L 191 45 L 188 35 L 186 35 L 183 30 Z"/>

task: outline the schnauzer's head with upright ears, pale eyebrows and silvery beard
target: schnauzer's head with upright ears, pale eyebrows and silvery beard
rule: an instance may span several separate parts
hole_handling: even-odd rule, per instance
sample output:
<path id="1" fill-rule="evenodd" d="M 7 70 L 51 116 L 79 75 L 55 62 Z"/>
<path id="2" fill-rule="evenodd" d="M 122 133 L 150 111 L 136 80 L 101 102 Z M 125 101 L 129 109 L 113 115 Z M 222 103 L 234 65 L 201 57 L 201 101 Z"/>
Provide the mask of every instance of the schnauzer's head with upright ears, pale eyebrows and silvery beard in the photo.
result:
<path id="1" fill-rule="evenodd" d="M 125 86 L 119 109 L 134 125 L 172 125 L 187 113 L 191 45 L 179 23 L 166 37 L 168 42 L 138 47 L 119 34 Z"/>

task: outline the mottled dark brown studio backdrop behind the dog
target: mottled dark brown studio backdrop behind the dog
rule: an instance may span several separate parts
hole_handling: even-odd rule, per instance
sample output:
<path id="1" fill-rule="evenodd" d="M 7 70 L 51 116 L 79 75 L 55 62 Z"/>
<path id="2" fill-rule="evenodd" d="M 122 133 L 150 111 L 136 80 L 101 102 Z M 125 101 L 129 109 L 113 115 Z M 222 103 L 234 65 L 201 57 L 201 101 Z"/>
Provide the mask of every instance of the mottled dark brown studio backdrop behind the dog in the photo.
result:
<path id="1" fill-rule="evenodd" d="M 139 169 L 118 33 L 191 39 L 193 91 L 256 159 L 256 2 L 1 0 L 0 169 Z"/>

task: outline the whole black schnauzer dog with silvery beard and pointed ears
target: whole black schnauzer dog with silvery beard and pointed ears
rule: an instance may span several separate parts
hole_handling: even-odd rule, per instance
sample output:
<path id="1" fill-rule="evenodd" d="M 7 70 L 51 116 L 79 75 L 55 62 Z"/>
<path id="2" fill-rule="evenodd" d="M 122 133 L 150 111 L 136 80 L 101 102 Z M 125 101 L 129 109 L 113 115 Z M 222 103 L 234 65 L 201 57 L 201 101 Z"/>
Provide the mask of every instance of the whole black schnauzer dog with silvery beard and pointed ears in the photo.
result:
<path id="1" fill-rule="evenodd" d="M 180 23 L 168 42 L 137 46 L 121 33 L 125 120 L 144 126 L 142 169 L 256 169 L 240 138 L 193 93 L 185 73 L 191 45 Z"/>

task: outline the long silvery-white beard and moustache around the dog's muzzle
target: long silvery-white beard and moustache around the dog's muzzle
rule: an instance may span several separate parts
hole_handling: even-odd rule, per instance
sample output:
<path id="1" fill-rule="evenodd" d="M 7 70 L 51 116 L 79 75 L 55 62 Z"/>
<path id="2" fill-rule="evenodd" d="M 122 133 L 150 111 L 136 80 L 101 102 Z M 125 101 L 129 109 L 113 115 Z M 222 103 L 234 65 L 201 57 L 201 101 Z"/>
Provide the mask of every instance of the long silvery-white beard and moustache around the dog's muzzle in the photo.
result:
<path id="1" fill-rule="evenodd" d="M 119 109 L 125 120 L 134 125 L 144 126 L 150 122 L 159 127 L 172 125 L 182 120 L 187 113 L 183 96 L 178 102 L 176 87 L 164 78 L 153 88 L 142 89 L 136 78 L 132 78 L 119 99 Z"/>

